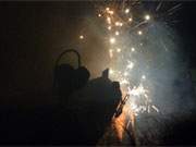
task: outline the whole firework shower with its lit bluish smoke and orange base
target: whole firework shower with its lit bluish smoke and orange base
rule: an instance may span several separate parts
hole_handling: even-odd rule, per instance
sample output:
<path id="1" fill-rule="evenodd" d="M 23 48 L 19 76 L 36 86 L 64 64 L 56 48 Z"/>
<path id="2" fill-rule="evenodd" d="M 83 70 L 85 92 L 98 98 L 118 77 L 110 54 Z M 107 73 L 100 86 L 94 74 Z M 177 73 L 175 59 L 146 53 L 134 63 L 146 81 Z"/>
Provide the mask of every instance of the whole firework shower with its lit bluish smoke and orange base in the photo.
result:
<path id="1" fill-rule="evenodd" d="M 157 82 L 162 79 L 160 76 L 166 74 L 168 69 L 164 71 L 158 64 L 167 64 L 167 59 L 173 60 L 170 59 L 170 53 L 175 45 L 169 38 L 170 35 L 173 37 L 173 34 L 170 34 L 172 29 L 168 24 L 171 24 L 171 21 L 169 23 L 166 15 L 172 15 L 180 4 L 167 11 L 163 10 L 163 3 L 161 1 L 155 5 L 155 10 L 151 7 L 147 10 L 148 5 L 135 7 L 124 0 L 122 3 L 111 1 L 99 5 L 98 13 L 95 14 L 99 24 L 94 24 L 96 27 L 93 28 L 100 30 L 97 35 L 103 40 L 100 44 L 109 59 L 109 77 L 120 82 L 123 97 L 128 96 L 121 117 L 126 118 L 133 127 L 137 123 L 134 120 L 138 118 L 164 113 L 162 97 L 159 95 L 161 89 Z M 84 36 L 81 39 L 84 39 Z M 166 56 L 167 59 L 160 59 Z M 160 88 L 162 87 L 161 85 Z"/>

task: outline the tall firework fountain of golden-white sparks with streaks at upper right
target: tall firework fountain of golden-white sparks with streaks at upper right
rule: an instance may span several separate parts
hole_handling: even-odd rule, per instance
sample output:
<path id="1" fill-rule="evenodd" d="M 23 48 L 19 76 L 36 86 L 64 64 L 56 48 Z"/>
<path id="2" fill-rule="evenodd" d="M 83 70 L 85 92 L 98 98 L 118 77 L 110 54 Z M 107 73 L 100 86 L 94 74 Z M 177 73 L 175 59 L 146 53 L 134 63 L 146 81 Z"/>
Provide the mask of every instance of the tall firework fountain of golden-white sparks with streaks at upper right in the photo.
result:
<path id="1" fill-rule="evenodd" d="M 136 1 L 113 3 L 99 5 L 100 10 L 97 14 L 107 29 L 107 35 L 105 34 L 101 37 L 107 38 L 107 47 L 109 47 L 110 78 L 120 82 L 122 91 L 130 97 L 126 107 L 135 115 L 144 112 L 149 113 L 151 112 L 150 109 L 159 112 L 160 110 L 151 100 L 152 91 L 149 87 L 152 87 L 152 84 L 147 70 L 150 64 L 154 64 L 149 63 L 152 60 L 147 59 L 151 56 L 149 51 L 151 48 L 148 42 L 156 44 L 155 39 L 159 36 L 155 38 L 149 36 L 149 28 L 160 16 L 160 20 L 164 22 L 166 15 L 172 15 L 181 4 L 174 5 L 158 15 L 163 5 L 162 2 L 158 2 L 155 12 L 137 7 L 140 2 Z M 167 23 L 164 22 L 164 24 Z M 151 32 L 154 30 L 151 29 Z M 84 39 L 84 36 L 79 36 L 79 39 Z M 160 46 L 163 46 L 163 49 L 169 52 L 162 40 L 160 40 Z"/>

